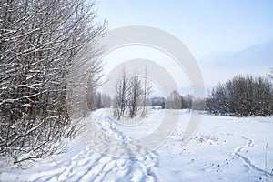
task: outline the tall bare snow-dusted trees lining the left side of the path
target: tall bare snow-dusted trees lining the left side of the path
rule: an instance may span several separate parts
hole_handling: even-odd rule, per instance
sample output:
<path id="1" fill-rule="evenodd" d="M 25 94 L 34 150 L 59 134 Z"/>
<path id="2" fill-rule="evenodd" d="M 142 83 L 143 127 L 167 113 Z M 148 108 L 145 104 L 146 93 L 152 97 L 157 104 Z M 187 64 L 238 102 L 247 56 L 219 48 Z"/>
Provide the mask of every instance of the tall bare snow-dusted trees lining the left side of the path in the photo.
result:
<path id="1" fill-rule="evenodd" d="M 105 30 L 95 11 L 86 0 L 1 1 L 0 155 L 15 163 L 51 155 L 65 149 L 56 142 L 75 134 L 66 76 L 76 53 Z M 88 61 L 94 77 L 100 63 Z"/>

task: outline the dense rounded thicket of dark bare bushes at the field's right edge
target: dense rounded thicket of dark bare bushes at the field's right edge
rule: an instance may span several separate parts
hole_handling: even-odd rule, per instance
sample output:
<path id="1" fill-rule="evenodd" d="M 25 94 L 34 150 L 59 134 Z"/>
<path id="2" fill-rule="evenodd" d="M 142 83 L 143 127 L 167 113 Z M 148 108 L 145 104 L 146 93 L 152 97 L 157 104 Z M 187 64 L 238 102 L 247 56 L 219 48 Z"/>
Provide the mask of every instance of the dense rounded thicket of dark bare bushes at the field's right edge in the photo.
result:
<path id="1" fill-rule="evenodd" d="M 219 115 L 272 116 L 272 81 L 261 76 L 235 76 L 212 89 L 206 109 Z"/>

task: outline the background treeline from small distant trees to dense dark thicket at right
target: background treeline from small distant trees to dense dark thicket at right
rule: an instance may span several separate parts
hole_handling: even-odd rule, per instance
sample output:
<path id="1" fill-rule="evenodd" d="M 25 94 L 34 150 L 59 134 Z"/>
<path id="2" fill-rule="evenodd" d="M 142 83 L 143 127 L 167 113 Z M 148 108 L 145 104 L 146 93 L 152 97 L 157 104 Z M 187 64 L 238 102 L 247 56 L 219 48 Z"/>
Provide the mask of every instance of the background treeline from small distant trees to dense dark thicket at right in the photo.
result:
<path id="1" fill-rule="evenodd" d="M 235 76 L 214 87 L 207 98 L 181 96 L 174 90 L 167 99 L 152 98 L 151 105 L 167 109 L 205 109 L 215 115 L 273 116 L 272 75 L 273 73 L 268 77 Z"/>

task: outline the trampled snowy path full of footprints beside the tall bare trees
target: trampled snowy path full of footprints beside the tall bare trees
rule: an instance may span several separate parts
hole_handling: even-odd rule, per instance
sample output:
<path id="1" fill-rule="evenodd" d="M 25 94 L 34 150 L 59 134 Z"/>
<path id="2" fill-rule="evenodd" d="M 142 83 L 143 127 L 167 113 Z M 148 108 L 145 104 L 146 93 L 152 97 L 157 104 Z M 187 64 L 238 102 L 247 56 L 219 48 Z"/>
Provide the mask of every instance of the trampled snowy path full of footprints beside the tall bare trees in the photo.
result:
<path id="1" fill-rule="evenodd" d="M 121 141 L 126 139 L 109 116 L 98 112 L 91 117 L 105 133 L 116 136 Z M 139 157 L 113 157 L 96 152 L 80 139 L 77 142 L 81 144 L 72 146 L 80 147 L 74 155 L 70 153 L 70 157 L 67 157 L 68 152 L 44 167 L 33 167 L 32 174 L 27 174 L 23 170 L 18 177 L 14 177 L 14 181 L 158 181 L 156 152 L 139 151 L 145 154 Z M 144 149 L 139 147 L 139 150 Z M 2 176 L 4 175 L 13 176 L 8 170 L 2 173 Z"/>

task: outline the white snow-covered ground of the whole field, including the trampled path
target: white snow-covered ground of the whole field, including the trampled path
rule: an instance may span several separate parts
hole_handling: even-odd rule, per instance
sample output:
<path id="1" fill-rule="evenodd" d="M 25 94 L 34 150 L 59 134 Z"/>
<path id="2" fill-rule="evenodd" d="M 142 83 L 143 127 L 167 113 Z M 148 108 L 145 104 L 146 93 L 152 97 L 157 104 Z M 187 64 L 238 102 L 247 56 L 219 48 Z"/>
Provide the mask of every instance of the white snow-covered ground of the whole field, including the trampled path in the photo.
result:
<path id="1" fill-rule="evenodd" d="M 171 120 L 179 114 L 173 134 L 145 155 L 101 154 L 79 136 L 69 141 L 66 154 L 26 169 L 1 158 L 0 181 L 273 181 L 272 117 L 204 115 L 187 144 L 182 141 L 190 116 L 187 111 L 151 110 L 145 119 L 116 123 L 111 110 L 101 109 L 90 119 L 106 135 L 134 140 L 150 135 L 164 116 Z"/>

